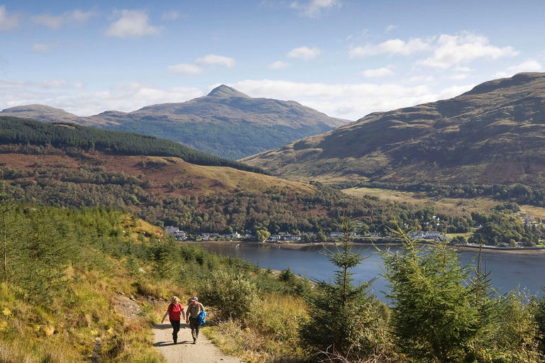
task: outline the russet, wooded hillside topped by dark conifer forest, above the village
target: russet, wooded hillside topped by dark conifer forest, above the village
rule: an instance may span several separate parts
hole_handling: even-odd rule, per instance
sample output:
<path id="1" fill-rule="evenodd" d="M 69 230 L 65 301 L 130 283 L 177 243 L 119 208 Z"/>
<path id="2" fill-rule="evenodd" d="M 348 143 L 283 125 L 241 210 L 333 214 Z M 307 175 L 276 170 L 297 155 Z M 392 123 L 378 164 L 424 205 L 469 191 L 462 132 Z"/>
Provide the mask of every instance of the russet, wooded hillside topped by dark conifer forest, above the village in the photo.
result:
<path id="1" fill-rule="evenodd" d="M 122 208 L 189 233 L 328 233 L 345 213 L 378 230 L 392 216 L 413 223 L 434 215 L 414 217 L 419 208 L 410 204 L 235 169 L 243 164 L 231 160 L 235 164 L 197 164 L 203 160 L 169 148 L 163 155 L 150 152 L 161 145 L 183 148 L 138 134 L 0 118 L 0 169 L 9 193 L 25 203 Z"/>

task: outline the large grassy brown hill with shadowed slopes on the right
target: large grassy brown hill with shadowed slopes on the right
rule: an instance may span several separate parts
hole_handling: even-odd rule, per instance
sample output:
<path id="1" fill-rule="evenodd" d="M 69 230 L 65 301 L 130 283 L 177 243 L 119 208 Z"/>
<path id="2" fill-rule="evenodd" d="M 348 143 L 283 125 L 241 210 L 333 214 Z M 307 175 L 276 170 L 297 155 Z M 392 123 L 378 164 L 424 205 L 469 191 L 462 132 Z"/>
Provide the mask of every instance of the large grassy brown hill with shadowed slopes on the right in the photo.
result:
<path id="1" fill-rule="evenodd" d="M 495 79 L 443 101 L 370 113 L 242 160 L 317 181 L 545 186 L 545 74 Z"/>

